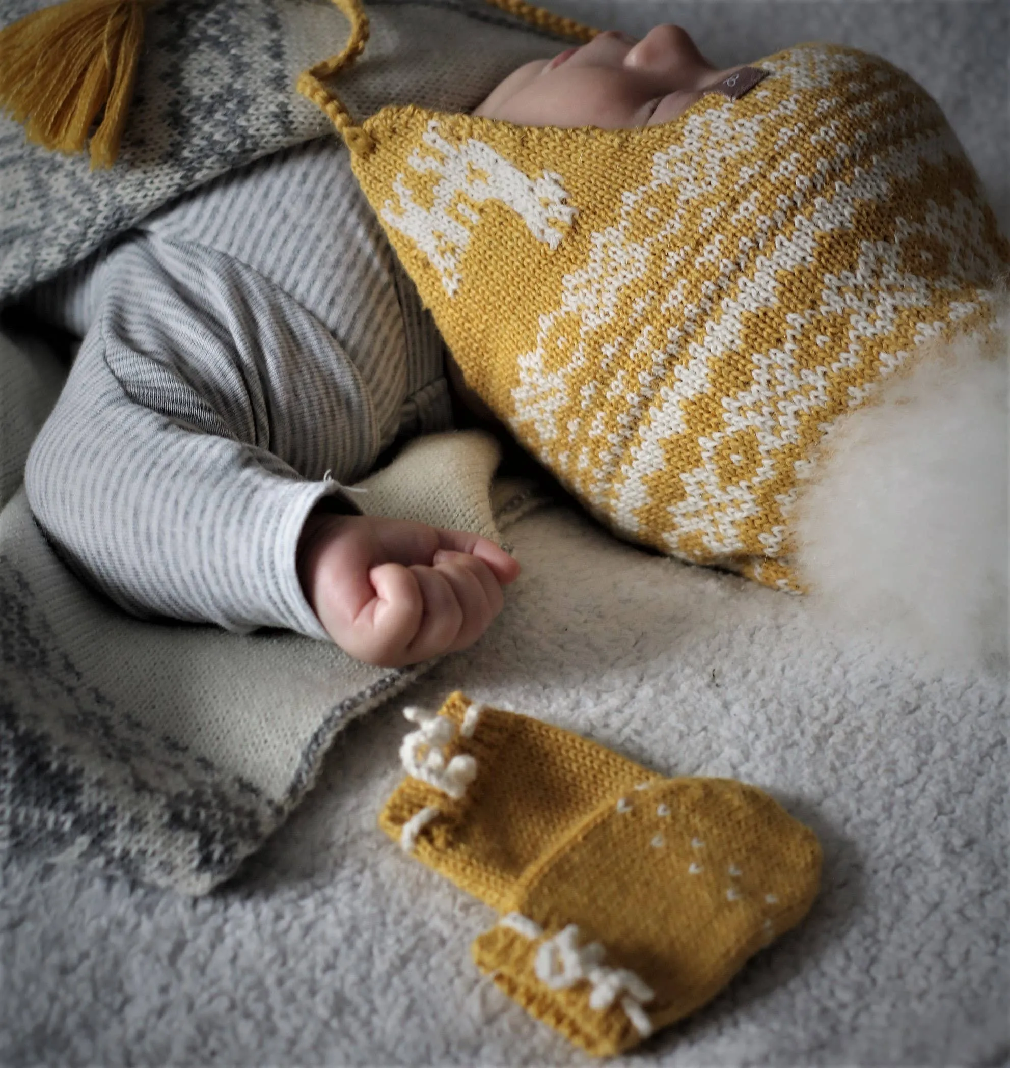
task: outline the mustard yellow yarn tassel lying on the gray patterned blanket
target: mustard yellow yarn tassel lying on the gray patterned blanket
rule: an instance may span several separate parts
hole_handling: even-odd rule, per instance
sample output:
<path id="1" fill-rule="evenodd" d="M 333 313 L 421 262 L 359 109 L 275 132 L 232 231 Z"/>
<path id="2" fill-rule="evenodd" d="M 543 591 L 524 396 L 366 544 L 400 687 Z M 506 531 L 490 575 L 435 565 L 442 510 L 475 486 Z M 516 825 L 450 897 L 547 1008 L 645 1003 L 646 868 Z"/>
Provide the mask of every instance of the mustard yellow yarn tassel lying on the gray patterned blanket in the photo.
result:
<path id="1" fill-rule="evenodd" d="M 0 30 L 0 107 L 29 140 L 111 167 L 133 94 L 147 0 L 66 0 Z"/>

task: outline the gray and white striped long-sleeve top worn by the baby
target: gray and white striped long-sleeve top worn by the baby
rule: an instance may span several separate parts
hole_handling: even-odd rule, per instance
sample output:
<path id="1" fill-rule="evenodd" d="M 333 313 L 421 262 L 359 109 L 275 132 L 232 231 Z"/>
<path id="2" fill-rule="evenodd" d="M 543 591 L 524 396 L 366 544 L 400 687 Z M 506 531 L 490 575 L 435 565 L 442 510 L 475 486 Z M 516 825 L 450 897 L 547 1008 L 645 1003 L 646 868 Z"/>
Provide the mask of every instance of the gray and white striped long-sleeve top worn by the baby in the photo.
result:
<path id="1" fill-rule="evenodd" d="M 137 615 L 326 639 L 305 517 L 451 423 L 441 339 L 346 150 L 227 174 L 32 300 L 83 337 L 26 469 L 68 563 Z"/>

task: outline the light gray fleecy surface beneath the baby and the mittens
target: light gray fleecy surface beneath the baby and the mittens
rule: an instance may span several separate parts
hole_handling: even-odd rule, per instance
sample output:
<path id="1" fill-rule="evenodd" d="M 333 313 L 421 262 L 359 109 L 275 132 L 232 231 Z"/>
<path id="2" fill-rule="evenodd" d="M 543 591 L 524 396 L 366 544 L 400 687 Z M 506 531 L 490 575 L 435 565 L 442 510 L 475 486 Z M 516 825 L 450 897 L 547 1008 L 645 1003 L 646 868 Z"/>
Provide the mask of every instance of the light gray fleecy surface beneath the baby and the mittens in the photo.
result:
<path id="1" fill-rule="evenodd" d="M 936 96 L 1010 222 L 1001 3 L 557 6 L 632 31 L 681 21 L 727 64 L 816 37 L 881 52 Z M 375 828 L 399 708 L 456 687 L 667 774 L 753 782 L 821 836 L 807 922 L 629 1065 L 1010 1061 L 1007 680 L 916 668 L 569 513 L 510 538 L 524 575 L 491 632 L 349 727 L 230 886 L 190 901 L 73 865 L 4 868 L 0 1062 L 588 1064 L 476 972 L 490 910 Z"/>

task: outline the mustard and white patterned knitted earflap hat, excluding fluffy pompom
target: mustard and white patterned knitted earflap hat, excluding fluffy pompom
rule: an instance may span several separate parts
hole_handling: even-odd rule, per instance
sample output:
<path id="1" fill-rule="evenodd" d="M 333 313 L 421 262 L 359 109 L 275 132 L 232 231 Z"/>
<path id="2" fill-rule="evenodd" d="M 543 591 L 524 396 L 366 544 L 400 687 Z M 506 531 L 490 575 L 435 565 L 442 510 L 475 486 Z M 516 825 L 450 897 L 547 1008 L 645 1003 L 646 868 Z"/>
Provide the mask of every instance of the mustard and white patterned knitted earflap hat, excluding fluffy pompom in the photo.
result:
<path id="1" fill-rule="evenodd" d="M 615 532 L 788 588 L 825 431 L 919 342 L 985 328 L 1010 247 L 906 74 L 826 44 L 757 66 L 736 99 L 627 130 L 357 125 L 304 91 L 516 437 Z"/>

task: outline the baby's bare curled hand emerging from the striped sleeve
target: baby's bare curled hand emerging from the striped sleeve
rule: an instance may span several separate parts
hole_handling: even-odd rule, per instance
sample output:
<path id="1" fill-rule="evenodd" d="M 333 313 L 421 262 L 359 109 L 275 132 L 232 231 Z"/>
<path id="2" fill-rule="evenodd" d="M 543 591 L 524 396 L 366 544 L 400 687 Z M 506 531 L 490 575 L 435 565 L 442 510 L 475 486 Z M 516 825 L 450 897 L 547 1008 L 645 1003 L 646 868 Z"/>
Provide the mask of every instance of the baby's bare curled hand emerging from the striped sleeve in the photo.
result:
<path id="1" fill-rule="evenodd" d="M 400 519 L 314 513 L 298 546 L 302 590 L 329 635 L 384 668 L 473 644 L 518 575 L 487 538 Z"/>

